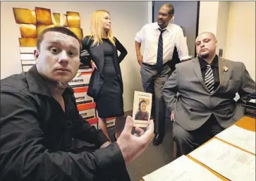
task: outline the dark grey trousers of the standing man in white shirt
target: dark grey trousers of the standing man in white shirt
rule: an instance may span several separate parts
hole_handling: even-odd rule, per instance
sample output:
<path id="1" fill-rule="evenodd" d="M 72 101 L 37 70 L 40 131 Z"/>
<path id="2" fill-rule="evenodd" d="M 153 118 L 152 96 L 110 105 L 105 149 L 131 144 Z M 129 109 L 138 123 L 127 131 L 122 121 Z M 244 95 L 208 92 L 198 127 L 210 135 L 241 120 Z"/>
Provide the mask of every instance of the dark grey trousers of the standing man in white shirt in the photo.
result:
<path id="1" fill-rule="evenodd" d="M 155 132 L 164 135 L 166 105 L 162 90 L 171 75 L 171 68 L 164 64 L 160 73 L 155 68 L 142 64 L 140 68 L 142 86 L 145 92 L 152 93 L 151 116 L 156 120 Z"/>

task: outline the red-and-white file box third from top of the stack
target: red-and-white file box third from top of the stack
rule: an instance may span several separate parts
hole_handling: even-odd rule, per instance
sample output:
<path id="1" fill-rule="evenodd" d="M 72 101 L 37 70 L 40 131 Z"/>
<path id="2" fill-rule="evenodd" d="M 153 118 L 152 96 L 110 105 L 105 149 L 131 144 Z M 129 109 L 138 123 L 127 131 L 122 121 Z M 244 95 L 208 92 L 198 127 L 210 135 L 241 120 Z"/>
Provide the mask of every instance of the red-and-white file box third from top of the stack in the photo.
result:
<path id="1" fill-rule="evenodd" d="M 86 103 L 86 104 L 78 104 L 77 107 L 78 107 L 78 111 L 80 113 L 80 116 L 82 116 L 85 120 L 96 117 L 96 113 L 95 113 L 96 104 L 95 104 L 95 102 Z"/>

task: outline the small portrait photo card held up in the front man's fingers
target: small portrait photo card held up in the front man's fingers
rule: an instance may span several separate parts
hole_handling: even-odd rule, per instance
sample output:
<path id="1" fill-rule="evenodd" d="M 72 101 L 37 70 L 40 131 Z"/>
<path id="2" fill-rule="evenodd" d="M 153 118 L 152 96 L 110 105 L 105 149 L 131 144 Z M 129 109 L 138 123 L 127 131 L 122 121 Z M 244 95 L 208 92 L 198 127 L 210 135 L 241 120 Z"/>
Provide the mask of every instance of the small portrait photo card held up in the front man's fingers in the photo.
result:
<path id="1" fill-rule="evenodd" d="M 134 127 L 147 127 L 150 120 L 152 106 L 152 94 L 146 92 L 134 92 L 133 120 Z"/>

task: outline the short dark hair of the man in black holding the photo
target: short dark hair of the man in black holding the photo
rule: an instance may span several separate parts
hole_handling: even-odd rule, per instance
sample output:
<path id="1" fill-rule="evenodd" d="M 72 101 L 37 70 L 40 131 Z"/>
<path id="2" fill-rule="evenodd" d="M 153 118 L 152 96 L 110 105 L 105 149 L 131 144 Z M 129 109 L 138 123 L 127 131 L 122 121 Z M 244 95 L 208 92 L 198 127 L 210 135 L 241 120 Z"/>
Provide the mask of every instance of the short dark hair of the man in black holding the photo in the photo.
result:
<path id="1" fill-rule="evenodd" d="M 74 37 L 75 39 L 78 39 L 78 36 L 76 36 L 75 33 L 71 32 L 71 30 L 68 30 L 68 28 L 66 28 L 66 27 L 63 27 L 63 26 L 47 27 L 41 32 L 41 34 L 37 38 L 37 49 L 38 50 L 40 50 L 40 44 L 44 40 L 44 34 L 47 33 L 47 32 L 60 32 L 60 33 L 63 33 L 65 35 Z M 80 44 L 80 50 L 81 50 L 81 41 L 80 41 L 80 39 L 78 39 L 78 42 Z"/>

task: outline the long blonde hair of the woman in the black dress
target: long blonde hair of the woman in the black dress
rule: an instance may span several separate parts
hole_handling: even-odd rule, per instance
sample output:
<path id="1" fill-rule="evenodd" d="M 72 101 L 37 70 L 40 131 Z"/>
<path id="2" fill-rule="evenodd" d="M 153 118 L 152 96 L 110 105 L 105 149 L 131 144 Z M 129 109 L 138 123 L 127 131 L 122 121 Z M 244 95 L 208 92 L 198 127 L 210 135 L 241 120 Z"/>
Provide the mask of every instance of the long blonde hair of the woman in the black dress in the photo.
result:
<path id="1" fill-rule="evenodd" d="M 104 18 L 104 13 L 109 12 L 105 10 L 97 10 L 92 14 L 89 34 L 90 38 L 93 38 L 94 40 L 92 46 L 99 45 L 99 43 L 103 44 L 102 38 L 104 36 L 104 27 L 102 20 Z M 107 32 L 107 37 L 110 42 L 115 45 L 114 36 L 111 29 Z"/>

